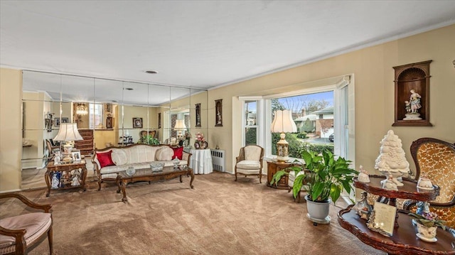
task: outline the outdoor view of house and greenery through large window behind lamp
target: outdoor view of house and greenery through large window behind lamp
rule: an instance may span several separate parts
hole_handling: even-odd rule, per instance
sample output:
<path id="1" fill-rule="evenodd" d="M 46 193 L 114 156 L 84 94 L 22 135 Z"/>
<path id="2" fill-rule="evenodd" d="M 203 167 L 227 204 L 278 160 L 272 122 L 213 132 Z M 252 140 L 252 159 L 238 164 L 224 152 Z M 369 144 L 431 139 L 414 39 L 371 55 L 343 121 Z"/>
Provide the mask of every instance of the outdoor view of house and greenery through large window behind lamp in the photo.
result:
<path id="1" fill-rule="evenodd" d="M 301 158 L 304 150 L 333 152 L 333 91 L 302 94 L 271 99 L 271 119 L 274 112 L 288 109 L 297 126 L 297 132 L 286 134 L 289 157 Z M 279 133 L 272 134 L 272 155 L 277 154 Z"/>

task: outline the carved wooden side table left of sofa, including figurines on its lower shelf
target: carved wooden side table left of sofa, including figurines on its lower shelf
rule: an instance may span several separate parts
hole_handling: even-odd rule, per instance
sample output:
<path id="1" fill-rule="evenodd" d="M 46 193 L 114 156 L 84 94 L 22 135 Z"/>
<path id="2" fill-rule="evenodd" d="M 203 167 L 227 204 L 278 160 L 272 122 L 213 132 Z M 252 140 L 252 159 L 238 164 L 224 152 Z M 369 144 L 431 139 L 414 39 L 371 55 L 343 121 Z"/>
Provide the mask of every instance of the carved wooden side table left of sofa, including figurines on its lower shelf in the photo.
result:
<path id="1" fill-rule="evenodd" d="M 48 186 L 48 191 L 45 196 L 48 197 L 50 190 L 67 190 L 73 188 L 85 188 L 85 178 L 87 178 L 87 168 L 85 167 L 85 161 L 79 161 L 74 163 L 61 163 L 58 165 L 54 164 L 54 161 L 50 161 L 46 166 L 48 170 L 45 171 L 44 180 Z"/>

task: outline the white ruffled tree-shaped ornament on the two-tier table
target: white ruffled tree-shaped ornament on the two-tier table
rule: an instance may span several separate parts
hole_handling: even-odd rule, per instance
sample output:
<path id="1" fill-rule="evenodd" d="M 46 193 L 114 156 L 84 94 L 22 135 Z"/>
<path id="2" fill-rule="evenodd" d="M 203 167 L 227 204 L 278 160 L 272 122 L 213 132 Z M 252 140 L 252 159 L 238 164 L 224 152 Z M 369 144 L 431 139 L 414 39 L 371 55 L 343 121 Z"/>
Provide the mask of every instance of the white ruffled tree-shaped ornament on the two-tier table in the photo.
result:
<path id="1" fill-rule="evenodd" d="M 403 151 L 401 139 L 393 134 L 392 130 L 380 141 L 379 156 L 376 158 L 375 169 L 383 175 L 392 175 L 398 186 L 402 186 L 403 173 L 410 172 L 410 163 L 407 162 Z"/>

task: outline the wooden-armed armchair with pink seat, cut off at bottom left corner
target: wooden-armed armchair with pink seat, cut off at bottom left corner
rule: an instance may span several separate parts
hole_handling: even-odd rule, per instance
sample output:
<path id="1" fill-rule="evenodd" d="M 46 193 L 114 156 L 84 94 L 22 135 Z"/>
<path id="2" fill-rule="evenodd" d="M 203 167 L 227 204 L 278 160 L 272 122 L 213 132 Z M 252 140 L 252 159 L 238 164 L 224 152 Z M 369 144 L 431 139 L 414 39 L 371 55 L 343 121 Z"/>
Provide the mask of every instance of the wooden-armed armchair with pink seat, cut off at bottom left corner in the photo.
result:
<path id="1" fill-rule="evenodd" d="M 52 205 L 40 205 L 18 193 L 0 194 L 1 215 L 6 208 L 20 200 L 27 206 L 26 214 L 14 215 L 0 219 L 0 254 L 27 254 L 35 246 L 44 241 L 49 242 L 49 253 L 52 254 Z M 17 204 L 17 203 L 16 203 Z M 36 209 L 30 209 L 30 208 Z M 36 212 L 43 210 L 44 212 Z"/>

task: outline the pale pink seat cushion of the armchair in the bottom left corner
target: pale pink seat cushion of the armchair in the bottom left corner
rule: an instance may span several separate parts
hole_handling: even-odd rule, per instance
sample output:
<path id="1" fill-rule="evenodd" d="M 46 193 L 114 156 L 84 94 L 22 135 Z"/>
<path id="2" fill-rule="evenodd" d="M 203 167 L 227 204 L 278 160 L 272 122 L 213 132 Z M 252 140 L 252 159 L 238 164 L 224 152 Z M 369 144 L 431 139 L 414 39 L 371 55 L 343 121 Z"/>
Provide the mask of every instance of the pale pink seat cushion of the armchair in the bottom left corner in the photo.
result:
<path id="1" fill-rule="evenodd" d="M 52 224 L 52 219 L 50 213 L 46 212 L 32 212 L 26 215 L 0 219 L 0 227 L 5 229 L 26 229 L 24 238 L 27 245 L 41 237 L 45 232 L 48 232 L 50 224 Z M 16 244 L 14 237 L 0 234 L 0 251 L 9 246 L 14 251 L 14 244 Z M 3 254 L 2 252 L 0 253 Z"/>

